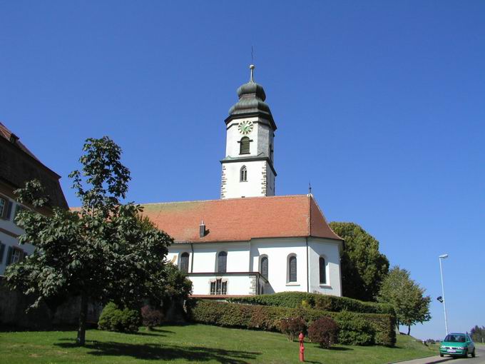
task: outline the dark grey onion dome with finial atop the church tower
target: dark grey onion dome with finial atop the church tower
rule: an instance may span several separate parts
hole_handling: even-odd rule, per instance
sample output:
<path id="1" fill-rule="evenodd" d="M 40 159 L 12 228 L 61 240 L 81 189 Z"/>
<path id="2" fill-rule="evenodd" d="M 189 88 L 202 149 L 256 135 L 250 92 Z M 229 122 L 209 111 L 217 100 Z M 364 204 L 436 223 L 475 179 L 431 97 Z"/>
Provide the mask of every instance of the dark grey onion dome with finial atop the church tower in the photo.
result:
<path id="1" fill-rule="evenodd" d="M 239 101 L 229 109 L 229 115 L 238 115 L 240 113 L 265 113 L 271 116 L 270 106 L 265 103 L 265 90 L 260 84 L 256 84 L 254 81 L 255 66 L 252 64 L 249 68 L 251 70 L 250 81 L 239 87 Z"/>

